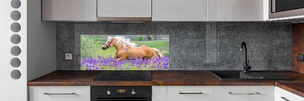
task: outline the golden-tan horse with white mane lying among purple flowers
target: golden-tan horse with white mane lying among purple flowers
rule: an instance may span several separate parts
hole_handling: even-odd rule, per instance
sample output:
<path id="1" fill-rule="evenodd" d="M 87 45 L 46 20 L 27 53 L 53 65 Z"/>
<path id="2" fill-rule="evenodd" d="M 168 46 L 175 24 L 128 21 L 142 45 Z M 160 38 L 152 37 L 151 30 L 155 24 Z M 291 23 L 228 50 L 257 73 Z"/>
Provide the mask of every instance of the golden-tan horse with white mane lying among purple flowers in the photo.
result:
<path id="1" fill-rule="evenodd" d="M 152 58 L 155 55 L 158 55 L 158 57 L 162 57 L 162 54 L 159 49 L 150 48 L 145 45 L 135 47 L 135 43 L 131 43 L 130 39 L 125 38 L 123 36 L 108 36 L 107 41 L 104 43 L 104 45 L 102 45 L 101 48 L 106 50 L 107 48 L 112 46 L 116 48 L 116 52 L 114 54 L 114 57 L 117 58 L 116 61 L 129 60 L 133 57 L 142 59 Z"/>

